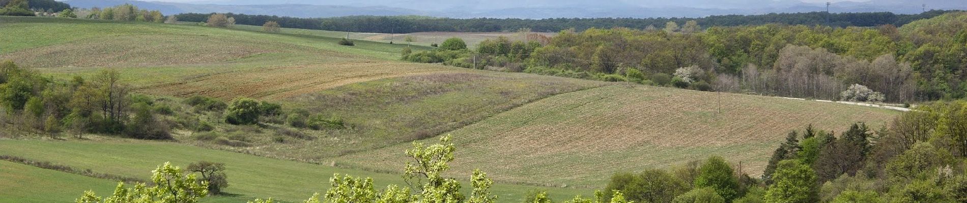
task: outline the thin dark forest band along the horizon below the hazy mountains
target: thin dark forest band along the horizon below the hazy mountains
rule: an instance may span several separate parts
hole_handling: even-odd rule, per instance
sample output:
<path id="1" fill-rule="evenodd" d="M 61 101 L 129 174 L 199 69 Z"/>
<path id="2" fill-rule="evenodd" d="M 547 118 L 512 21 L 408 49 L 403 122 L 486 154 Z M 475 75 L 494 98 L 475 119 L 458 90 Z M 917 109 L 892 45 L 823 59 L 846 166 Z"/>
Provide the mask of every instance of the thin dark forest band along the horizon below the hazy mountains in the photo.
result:
<path id="1" fill-rule="evenodd" d="M 344 16 L 329 18 L 298 18 L 275 15 L 251 15 L 227 13 L 238 24 L 262 25 L 276 21 L 284 28 L 362 32 L 362 33 L 417 33 L 417 32 L 506 32 L 530 29 L 534 32 L 559 32 L 567 29 L 584 31 L 590 28 L 646 29 L 661 27 L 672 21 L 685 24 L 694 20 L 706 27 L 762 24 L 830 25 L 833 27 L 872 27 L 892 24 L 901 26 L 918 19 L 930 18 L 952 11 L 929 11 L 919 14 L 894 13 L 769 13 L 758 15 L 713 15 L 708 17 L 672 18 L 547 18 L 547 19 L 499 19 L 499 18 L 438 18 L 425 16 Z M 181 13 L 181 21 L 204 22 L 212 13 Z"/>

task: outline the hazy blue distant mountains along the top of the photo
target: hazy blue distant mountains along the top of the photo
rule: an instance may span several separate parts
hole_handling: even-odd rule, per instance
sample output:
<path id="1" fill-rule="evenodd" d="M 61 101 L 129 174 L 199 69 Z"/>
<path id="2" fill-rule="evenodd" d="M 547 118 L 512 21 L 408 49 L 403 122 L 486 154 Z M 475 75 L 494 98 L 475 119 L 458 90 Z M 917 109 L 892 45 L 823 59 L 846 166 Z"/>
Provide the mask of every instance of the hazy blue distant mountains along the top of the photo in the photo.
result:
<path id="1" fill-rule="evenodd" d="M 965 0 L 870 0 L 837 2 L 833 13 L 921 13 L 927 10 L 967 10 Z M 799 0 L 210 0 L 196 3 L 132 0 L 68 0 L 78 8 L 132 4 L 142 9 L 175 13 L 246 13 L 293 17 L 346 15 L 427 15 L 472 18 L 556 17 L 700 17 L 717 14 L 802 13 L 825 11 L 825 4 Z"/>

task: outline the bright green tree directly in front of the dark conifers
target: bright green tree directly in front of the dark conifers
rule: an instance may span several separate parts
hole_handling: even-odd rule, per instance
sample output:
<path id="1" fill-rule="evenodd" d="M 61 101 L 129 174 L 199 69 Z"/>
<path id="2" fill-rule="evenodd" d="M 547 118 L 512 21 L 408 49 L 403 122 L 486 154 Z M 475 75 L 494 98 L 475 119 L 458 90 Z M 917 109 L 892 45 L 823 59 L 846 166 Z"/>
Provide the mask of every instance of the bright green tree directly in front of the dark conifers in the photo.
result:
<path id="1" fill-rule="evenodd" d="M 809 165 L 803 165 L 798 160 L 779 162 L 773 180 L 776 183 L 763 198 L 766 203 L 811 203 L 819 200 L 816 173 Z"/>

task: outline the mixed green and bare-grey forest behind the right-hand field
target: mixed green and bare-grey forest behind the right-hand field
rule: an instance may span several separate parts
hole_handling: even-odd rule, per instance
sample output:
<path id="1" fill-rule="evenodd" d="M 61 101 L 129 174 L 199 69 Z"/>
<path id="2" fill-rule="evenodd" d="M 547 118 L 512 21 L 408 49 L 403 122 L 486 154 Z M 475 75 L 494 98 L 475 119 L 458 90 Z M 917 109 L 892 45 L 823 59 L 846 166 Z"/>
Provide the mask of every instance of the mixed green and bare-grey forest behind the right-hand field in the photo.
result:
<path id="1" fill-rule="evenodd" d="M 526 35 L 526 33 L 524 33 Z M 963 98 L 967 13 L 897 28 L 767 24 L 567 30 L 403 53 L 403 60 L 646 85 L 801 98 L 914 102 Z M 534 38 L 531 38 L 534 37 Z M 454 40 L 459 40 L 454 38 Z"/>

